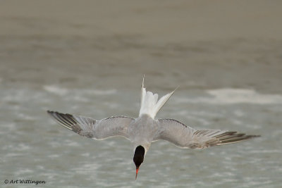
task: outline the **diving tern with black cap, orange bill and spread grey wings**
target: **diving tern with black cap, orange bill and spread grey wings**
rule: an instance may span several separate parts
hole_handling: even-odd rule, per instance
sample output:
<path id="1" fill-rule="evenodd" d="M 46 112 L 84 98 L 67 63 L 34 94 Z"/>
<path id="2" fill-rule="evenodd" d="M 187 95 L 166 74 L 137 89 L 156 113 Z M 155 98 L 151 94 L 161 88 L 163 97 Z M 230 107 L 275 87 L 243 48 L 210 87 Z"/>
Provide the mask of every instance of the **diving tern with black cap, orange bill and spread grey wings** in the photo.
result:
<path id="1" fill-rule="evenodd" d="M 210 146 L 221 146 L 242 142 L 246 139 L 260 137 L 236 131 L 197 130 L 171 118 L 155 118 L 166 101 L 173 95 L 170 92 L 158 100 L 158 94 L 147 92 L 142 80 L 140 111 L 137 118 L 112 116 L 95 120 L 81 115 L 47 111 L 57 123 L 82 137 L 102 140 L 110 137 L 124 137 L 133 146 L 133 162 L 136 167 L 137 179 L 140 165 L 152 142 L 166 140 L 184 149 L 205 149 Z"/>

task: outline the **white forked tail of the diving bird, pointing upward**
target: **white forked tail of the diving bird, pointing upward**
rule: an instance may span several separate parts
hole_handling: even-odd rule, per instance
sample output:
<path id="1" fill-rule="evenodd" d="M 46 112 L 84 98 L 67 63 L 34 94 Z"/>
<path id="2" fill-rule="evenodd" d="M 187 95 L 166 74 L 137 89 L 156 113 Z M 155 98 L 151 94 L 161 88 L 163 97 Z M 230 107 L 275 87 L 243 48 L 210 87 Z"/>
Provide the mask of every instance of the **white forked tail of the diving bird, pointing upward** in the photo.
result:
<path id="1" fill-rule="evenodd" d="M 175 91 L 176 89 L 173 92 L 166 94 L 165 96 L 162 96 L 161 99 L 159 99 L 158 101 L 158 94 L 153 94 L 152 92 L 146 92 L 146 88 L 144 87 L 144 76 L 143 76 L 139 117 L 142 114 L 147 114 L 154 119 L 154 117 L 157 115 L 161 107 L 164 106 L 164 104 L 166 104 L 166 101 L 169 99 L 169 97 L 171 97 L 171 95 Z"/>

